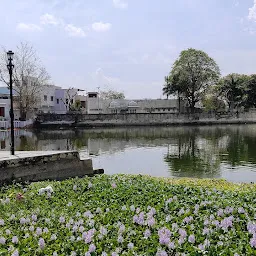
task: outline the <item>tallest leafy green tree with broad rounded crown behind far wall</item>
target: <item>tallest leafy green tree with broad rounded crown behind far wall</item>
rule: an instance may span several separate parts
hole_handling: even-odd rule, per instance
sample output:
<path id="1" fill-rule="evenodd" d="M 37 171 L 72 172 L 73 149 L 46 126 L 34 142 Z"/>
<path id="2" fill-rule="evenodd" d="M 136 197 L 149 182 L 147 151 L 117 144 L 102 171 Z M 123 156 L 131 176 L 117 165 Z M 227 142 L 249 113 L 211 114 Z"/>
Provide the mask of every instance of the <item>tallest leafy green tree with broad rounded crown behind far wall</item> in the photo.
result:
<path id="1" fill-rule="evenodd" d="M 192 113 L 208 88 L 219 80 L 220 69 L 205 52 L 188 49 L 180 53 L 169 75 L 168 93 L 179 95 L 188 102 Z M 165 92 L 164 91 L 164 92 Z"/>

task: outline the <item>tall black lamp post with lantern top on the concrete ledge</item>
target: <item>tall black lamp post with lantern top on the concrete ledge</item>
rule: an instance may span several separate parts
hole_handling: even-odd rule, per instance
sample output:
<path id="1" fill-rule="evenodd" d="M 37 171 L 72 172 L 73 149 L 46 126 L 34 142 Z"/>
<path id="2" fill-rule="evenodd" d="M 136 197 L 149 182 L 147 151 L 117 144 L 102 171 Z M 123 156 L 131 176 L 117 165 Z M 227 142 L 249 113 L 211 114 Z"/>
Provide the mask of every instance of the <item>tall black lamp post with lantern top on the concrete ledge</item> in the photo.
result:
<path id="1" fill-rule="evenodd" d="M 14 114 L 13 114 L 13 94 L 12 94 L 12 71 L 14 68 L 14 65 L 12 64 L 13 61 L 13 52 L 8 51 L 7 52 L 7 59 L 8 64 L 7 68 L 9 70 L 10 75 L 10 100 L 11 100 L 11 108 L 10 108 L 10 118 L 11 118 L 11 155 L 14 155 Z"/>

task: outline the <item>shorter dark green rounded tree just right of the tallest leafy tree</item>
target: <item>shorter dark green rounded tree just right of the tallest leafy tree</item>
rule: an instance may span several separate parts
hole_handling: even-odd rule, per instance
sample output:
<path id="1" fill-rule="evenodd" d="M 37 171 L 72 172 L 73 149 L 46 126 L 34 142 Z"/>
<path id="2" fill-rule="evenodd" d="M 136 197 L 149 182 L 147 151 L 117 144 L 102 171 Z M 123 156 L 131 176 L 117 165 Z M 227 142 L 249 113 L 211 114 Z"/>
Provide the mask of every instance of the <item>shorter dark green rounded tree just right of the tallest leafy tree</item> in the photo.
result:
<path id="1" fill-rule="evenodd" d="M 229 110 L 246 105 L 249 77 L 241 74 L 229 74 L 219 82 L 219 95 L 227 102 Z"/>

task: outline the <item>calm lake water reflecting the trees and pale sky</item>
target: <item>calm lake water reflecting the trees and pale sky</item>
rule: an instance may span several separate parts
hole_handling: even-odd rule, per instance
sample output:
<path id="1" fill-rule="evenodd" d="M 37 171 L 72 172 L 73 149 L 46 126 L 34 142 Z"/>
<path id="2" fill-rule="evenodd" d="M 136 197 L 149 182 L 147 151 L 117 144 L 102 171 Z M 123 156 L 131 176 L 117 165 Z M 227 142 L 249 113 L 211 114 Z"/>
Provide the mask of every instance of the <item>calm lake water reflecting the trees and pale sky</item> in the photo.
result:
<path id="1" fill-rule="evenodd" d="M 1 132 L 1 150 L 9 150 Z M 16 150 L 81 150 L 105 173 L 256 182 L 256 125 L 17 131 Z"/>

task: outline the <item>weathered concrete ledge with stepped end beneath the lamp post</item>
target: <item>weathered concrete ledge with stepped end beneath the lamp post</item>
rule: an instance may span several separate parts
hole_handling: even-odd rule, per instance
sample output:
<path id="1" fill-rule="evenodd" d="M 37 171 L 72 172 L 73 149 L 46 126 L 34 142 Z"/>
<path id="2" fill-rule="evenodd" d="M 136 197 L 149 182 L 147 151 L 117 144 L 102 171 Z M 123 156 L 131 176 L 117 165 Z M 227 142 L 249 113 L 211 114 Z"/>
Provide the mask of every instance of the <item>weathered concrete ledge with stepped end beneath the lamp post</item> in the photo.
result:
<path id="1" fill-rule="evenodd" d="M 62 180 L 93 175 L 92 159 L 81 160 L 77 151 L 0 152 L 0 184 L 17 181 Z"/>

